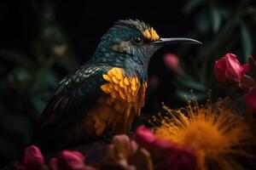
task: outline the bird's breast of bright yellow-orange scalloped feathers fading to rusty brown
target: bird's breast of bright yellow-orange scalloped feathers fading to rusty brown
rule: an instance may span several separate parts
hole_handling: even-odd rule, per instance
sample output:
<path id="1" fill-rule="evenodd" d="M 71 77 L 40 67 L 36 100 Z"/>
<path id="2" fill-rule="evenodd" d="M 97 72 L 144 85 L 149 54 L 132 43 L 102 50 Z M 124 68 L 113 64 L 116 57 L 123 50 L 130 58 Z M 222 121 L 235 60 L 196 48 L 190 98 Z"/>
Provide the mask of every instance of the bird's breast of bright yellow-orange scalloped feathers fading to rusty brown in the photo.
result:
<path id="1" fill-rule="evenodd" d="M 95 122 L 96 135 L 105 130 L 126 133 L 134 117 L 140 115 L 147 82 L 140 82 L 138 77 L 126 77 L 125 71 L 117 67 L 102 77 L 107 81 L 101 87 L 105 95 L 88 114 Z"/>

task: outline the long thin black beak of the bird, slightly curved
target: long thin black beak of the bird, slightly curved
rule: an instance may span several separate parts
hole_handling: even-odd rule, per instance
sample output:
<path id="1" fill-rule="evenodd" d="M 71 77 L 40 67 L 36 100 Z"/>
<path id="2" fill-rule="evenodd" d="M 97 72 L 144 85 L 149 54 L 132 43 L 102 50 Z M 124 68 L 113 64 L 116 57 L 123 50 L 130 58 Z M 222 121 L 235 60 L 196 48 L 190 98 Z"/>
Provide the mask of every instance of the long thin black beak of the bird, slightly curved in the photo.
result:
<path id="1" fill-rule="evenodd" d="M 202 44 L 202 42 L 199 42 L 192 38 L 186 38 L 186 37 L 160 38 L 159 40 L 152 43 L 172 44 L 172 43 L 179 43 L 179 42 L 189 43 L 189 44 Z"/>

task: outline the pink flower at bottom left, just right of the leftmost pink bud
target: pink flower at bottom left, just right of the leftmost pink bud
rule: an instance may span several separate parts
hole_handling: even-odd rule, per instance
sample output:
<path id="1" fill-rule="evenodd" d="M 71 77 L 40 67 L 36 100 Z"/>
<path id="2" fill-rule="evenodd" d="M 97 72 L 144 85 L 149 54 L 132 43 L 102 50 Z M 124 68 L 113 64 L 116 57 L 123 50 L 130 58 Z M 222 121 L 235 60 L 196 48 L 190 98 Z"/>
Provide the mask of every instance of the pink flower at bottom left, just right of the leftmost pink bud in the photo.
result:
<path id="1" fill-rule="evenodd" d="M 49 161 L 53 170 L 84 170 L 85 157 L 79 151 L 63 150 Z"/>

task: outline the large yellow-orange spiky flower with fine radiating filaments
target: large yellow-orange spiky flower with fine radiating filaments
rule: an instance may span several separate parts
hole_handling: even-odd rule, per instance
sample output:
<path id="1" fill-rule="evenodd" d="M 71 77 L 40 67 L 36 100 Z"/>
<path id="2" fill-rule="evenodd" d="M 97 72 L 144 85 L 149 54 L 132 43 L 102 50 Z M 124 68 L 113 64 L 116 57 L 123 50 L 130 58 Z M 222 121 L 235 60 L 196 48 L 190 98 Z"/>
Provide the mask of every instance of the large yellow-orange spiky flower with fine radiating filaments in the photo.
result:
<path id="1" fill-rule="evenodd" d="M 188 107 L 171 110 L 166 116 L 154 117 L 155 135 L 195 150 L 200 170 L 243 169 L 237 158 L 255 160 L 247 149 L 255 145 L 250 123 L 244 117 L 220 105 L 200 106 L 194 97 Z"/>

